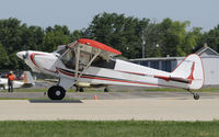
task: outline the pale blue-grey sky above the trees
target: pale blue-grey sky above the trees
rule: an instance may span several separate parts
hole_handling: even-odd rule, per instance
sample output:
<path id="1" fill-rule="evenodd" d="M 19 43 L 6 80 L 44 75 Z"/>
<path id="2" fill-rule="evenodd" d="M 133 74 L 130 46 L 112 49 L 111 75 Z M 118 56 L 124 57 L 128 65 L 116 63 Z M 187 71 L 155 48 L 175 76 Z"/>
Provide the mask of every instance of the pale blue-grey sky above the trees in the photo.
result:
<path id="1" fill-rule="evenodd" d="M 219 0 L 0 0 L 0 19 L 16 18 L 30 25 L 88 27 L 99 13 L 124 13 L 152 22 L 189 21 L 209 31 L 219 24 Z"/>

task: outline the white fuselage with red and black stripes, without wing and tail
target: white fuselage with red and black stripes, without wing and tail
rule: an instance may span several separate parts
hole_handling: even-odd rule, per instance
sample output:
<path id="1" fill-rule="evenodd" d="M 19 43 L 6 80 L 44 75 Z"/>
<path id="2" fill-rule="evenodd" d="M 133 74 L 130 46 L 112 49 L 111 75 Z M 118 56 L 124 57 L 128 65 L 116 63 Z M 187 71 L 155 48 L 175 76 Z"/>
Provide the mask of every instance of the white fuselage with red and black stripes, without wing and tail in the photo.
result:
<path id="1" fill-rule="evenodd" d="M 44 52 L 20 52 L 18 56 L 25 60 L 26 65 L 35 72 L 43 72 L 53 75 L 59 79 L 64 88 L 70 88 L 76 81 L 76 70 L 70 69 L 67 62 L 60 59 L 61 55 L 58 53 L 44 53 Z M 92 85 L 99 84 L 119 84 L 119 85 L 137 85 L 137 87 L 180 87 L 185 88 L 187 83 L 177 81 L 166 81 L 162 77 L 170 77 L 171 73 L 152 69 L 149 67 L 136 65 L 132 62 L 112 59 L 111 65 L 92 64 L 83 73 L 78 72 L 78 82 L 85 82 Z M 159 77 L 155 77 L 159 76 Z M 69 82 L 70 81 L 70 82 Z"/>

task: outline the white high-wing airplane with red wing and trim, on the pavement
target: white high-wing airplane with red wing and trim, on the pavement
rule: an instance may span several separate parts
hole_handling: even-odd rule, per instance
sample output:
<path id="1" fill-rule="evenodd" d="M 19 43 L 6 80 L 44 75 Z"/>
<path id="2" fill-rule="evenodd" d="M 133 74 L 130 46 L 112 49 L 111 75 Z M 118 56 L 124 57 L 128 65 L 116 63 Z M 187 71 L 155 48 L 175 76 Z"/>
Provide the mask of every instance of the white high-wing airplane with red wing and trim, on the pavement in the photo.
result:
<path id="1" fill-rule="evenodd" d="M 199 56 L 187 56 L 172 72 L 115 59 L 122 53 L 100 42 L 79 38 L 60 45 L 53 53 L 36 50 L 19 52 L 16 56 L 35 72 L 56 76 L 57 85 L 48 89 L 51 100 L 61 100 L 66 89 L 76 87 L 83 91 L 88 87 L 131 85 L 131 87 L 170 87 L 188 90 L 195 100 L 197 90 L 204 83 L 204 69 Z"/>

